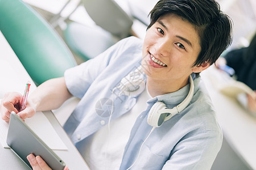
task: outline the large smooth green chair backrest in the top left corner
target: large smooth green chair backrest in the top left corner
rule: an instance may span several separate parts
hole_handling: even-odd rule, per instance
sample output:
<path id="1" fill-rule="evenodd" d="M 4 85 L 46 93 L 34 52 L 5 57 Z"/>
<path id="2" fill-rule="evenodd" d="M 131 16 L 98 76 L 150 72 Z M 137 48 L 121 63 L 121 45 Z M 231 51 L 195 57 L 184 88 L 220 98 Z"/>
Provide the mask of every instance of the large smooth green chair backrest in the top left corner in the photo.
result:
<path id="1" fill-rule="evenodd" d="M 23 1 L 0 0 L 0 16 L 1 32 L 36 85 L 77 65 L 55 29 Z"/>

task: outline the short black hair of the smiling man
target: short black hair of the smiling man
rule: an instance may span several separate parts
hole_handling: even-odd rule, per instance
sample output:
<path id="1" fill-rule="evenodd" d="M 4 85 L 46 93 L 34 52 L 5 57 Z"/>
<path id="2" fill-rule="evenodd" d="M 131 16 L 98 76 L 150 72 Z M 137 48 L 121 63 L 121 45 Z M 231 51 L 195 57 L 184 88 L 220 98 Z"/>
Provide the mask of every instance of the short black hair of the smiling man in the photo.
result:
<path id="1" fill-rule="evenodd" d="M 193 66 L 212 65 L 232 42 L 232 20 L 214 0 L 160 0 L 150 11 L 147 29 L 166 14 L 176 14 L 195 27 L 201 52 Z"/>

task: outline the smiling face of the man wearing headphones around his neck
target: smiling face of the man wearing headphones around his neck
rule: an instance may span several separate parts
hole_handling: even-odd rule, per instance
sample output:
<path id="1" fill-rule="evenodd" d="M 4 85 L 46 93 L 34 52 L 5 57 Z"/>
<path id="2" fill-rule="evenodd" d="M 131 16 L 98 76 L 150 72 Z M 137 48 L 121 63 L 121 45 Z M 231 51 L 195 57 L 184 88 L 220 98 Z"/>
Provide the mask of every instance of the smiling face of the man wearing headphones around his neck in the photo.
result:
<path id="1" fill-rule="evenodd" d="M 201 71 L 200 67 L 192 67 L 201 50 L 199 43 L 192 24 L 175 14 L 162 16 L 147 30 L 144 39 L 144 72 L 150 79 L 185 86 L 191 73 Z"/>

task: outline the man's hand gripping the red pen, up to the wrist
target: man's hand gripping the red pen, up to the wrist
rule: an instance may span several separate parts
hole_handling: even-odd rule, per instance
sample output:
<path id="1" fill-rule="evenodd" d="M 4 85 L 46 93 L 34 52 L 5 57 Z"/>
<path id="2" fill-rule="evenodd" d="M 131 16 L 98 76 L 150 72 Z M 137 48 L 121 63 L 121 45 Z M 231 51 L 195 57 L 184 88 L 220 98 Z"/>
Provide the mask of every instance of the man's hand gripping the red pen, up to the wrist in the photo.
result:
<path id="1" fill-rule="evenodd" d="M 1 117 L 4 121 L 10 121 L 11 111 L 14 111 L 20 118 L 25 120 L 27 117 L 32 117 L 35 114 L 35 107 L 30 100 L 27 101 L 26 108 L 19 112 L 22 103 L 22 95 L 18 92 L 8 92 L 5 94 L 1 101 L 0 111 Z"/>

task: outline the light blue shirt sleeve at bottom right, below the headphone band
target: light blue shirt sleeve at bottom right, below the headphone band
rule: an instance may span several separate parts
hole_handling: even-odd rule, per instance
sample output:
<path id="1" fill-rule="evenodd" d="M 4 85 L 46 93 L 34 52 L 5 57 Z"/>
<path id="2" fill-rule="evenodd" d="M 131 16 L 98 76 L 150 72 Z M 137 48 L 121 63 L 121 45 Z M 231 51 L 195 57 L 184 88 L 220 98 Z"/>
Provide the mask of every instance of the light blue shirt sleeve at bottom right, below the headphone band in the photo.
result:
<path id="1" fill-rule="evenodd" d="M 217 140 L 216 140 L 217 139 Z M 172 150 L 166 169 L 210 169 L 222 145 L 222 133 L 209 130 L 187 134 Z"/>

